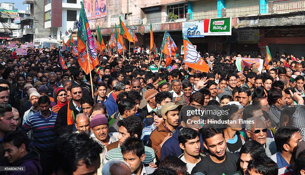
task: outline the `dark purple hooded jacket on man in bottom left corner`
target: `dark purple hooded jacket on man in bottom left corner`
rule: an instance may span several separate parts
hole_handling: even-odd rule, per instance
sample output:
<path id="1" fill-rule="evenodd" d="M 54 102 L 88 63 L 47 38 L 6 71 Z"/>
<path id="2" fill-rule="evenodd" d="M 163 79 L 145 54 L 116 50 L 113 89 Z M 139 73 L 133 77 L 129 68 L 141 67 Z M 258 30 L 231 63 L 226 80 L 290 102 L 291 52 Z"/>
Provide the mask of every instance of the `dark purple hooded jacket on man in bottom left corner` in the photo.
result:
<path id="1" fill-rule="evenodd" d="M 27 155 L 22 158 L 16 160 L 12 164 L 7 162 L 6 159 L 1 162 L 1 166 L 25 166 L 25 171 L 5 171 L 0 174 L 4 175 L 39 175 L 42 172 L 41 164 L 40 164 L 40 155 L 37 151 L 30 150 Z"/>

